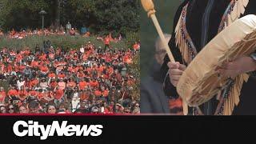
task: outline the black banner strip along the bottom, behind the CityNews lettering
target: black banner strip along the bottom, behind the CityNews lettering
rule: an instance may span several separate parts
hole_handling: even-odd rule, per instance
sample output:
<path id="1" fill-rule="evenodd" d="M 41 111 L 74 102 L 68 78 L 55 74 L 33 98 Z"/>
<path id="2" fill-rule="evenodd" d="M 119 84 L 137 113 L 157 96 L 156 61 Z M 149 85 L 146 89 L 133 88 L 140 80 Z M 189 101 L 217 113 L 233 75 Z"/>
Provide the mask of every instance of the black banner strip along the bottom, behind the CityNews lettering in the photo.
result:
<path id="1" fill-rule="evenodd" d="M 19 138 L 13 133 L 18 120 L 38 121 L 47 125 L 53 121 L 68 121 L 67 125 L 102 124 L 99 137 L 38 137 Z M 5 143 L 255 143 L 255 116 L 1 116 L 1 142 Z"/>

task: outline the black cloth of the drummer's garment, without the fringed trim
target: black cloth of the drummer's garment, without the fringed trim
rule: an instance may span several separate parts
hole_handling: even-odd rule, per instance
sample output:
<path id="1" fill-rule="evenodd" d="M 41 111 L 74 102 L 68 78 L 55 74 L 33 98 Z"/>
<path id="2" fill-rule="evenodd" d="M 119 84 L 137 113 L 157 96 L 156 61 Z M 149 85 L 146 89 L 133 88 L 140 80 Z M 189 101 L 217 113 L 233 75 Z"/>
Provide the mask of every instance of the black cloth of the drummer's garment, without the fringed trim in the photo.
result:
<path id="1" fill-rule="evenodd" d="M 186 29 L 190 34 L 190 38 L 194 42 L 196 50 L 199 52 L 202 48 L 210 42 L 218 34 L 218 27 L 222 21 L 222 16 L 225 13 L 227 6 L 230 4 L 230 0 L 186 0 L 182 2 L 182 5 L 178 7 L 178 10 L 174 17 L 174 28 L 178 23 L 178 19 L 182 13 L 182 8 L 186 6 L 189 2 L 187 11 L 186 11 Z M 256 1 L 250 0 L 246 6 L 245 13 L 241 15 L 240 18 L 247 14 L 256 14 Z M 208 13 L 208 14 L 207 14 Z M 205 26 L 205 24 L 207 26 Z M 206 31 L 205 31 L 206 30 Z M 203 34 L 206 34 L 205 36 Z M 174 58 L 177 62 L 183 63 L 182 55 L 176 46 L 175 43 L 175 32 L 172 33 L 173 37 L 170 39 L 169 46 L 171 47 L 171 52 L 174 55 Z M 206 41 L 206 42 L 202 42 Z M 167 74 L 169 70 L 167 63 L 170 62 L 169 58 L 166 55 L 165 62 L 161 68 L 162 82 L 164 83 L 164 92 L 166 96 L 172 96 L 178 98 L 178 93 L 176 88 L 170 83 L 170 78 Z M 242 86 L 242 93 L 240 95 L 240 103 L 235 107 L 233 114 L 256 114 L 256 105 L 253 102 L 256 102 L 254 97 L 253 86 L 256 86 L 256 80 L 250 78 L 249 82 L 245 82 Z M 213 98 L 214 99 L 214 98 Z M 218 102 L 213 102 L 215 110 Z M 250 107 L 250 110 L 249 110 Z M 203 107 L 202 107 L 203 108 Z M 190 110 L 191 113 L 191 110 Z M 213 114 L 213 113 L 212 113 Z"/>

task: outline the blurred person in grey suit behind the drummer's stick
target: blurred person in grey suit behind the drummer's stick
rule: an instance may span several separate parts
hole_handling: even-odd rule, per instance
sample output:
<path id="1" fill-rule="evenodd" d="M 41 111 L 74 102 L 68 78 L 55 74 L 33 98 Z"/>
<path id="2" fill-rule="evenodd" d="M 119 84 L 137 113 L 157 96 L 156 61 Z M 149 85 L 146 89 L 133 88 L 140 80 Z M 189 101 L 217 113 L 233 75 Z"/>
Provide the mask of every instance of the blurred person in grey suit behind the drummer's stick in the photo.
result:
<path id="1" fill-rule="evenodd" d="M 165 34 L 169 41 L 171 35 Z M 160 67 L 163 63 L 166 50 L 163 48 L 160 38 L 155 42 L 155 54 L 152 69 L 149 76 L 142 79 L 141 86 L 141 112 L 148 114 L 169 114 L 168 98 L 162 91 L 162 82 L 160 76 Z"/>

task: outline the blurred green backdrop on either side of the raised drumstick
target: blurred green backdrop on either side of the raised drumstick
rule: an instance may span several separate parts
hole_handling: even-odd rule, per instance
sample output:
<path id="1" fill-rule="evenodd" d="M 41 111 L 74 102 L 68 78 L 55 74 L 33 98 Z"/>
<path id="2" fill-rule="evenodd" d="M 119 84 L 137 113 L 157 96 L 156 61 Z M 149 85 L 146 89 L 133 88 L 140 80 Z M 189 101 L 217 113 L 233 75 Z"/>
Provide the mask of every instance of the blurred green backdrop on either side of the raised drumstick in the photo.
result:
<path id="1" fill-rule="evenodd" d="M 181 0 L 157 0 L 154 1 L 156 17 L 164 34 L 171 34 L 173 27 L 173 18 Z M 145 78 L 150 73 L 150 66 L 154 58 L 154 42 L 158 38 L 157 30 L 146 11 L 142 8 L 140 12 L 141 24 L 141 78 Z"/>

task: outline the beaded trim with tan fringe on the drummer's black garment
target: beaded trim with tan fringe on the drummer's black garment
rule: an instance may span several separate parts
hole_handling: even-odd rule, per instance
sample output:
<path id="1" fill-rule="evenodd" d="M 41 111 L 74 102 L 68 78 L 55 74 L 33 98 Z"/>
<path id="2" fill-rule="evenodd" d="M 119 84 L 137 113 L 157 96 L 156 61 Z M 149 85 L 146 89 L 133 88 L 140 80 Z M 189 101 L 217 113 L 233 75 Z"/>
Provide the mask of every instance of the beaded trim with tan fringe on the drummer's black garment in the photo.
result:
<path id="1" fill-rule="evenodd" d="M 241 14 L 244 14 L 246 6 L 248 5 L 249 0 L 231 0 L 229 6 L 227 6 L 225 13 L 222 16 L 222 21 L 220 22 L 220 25 L 218 27 L 218 33 L 220 33 L 222 30 L 226 28 L 226 26 L 230 26 L 232 22 L 240 18 Z M 186 6 L 182 9 L 182 14 L 178 20 L 178 24 L 175 28 L 175 44 L 178 46 L 183 61 L 186 62 L 186 64 L 190 64 L 190 62 L 194 59 L 194 57 L 198 54 L 198 51 L 196 50 L 194 43 L 192 39 L 190 38 L 190 34 L 188 34 L 186 30 L 186 12 L 187 7 L 189 6 L 189 3 L 186 4 Z M 241 83 L 237 84 L 241 85 Z M 233 88 L 232 88 L 233 89 Z M 234 90 L 230 90 L 231 93 Z M 228 95 L 224 99 L 224 102 L 222 104 L 221 110 L 218 113 L 219 114 L 231 114 L 234 106 L 229 108 L 227 110 L 227 105 L 230 104 L 230 99 L 235 100 L 233 102 L 234 104 L 238 104 L 239 98 L 233 98 L 232 94 L 227 93 Z M 231 96 L 230 96 L 231 95 Z M 240 95 L 240 94 L 239 94 Z M 194 114 L 197 114 L 195 110 Z"/>

